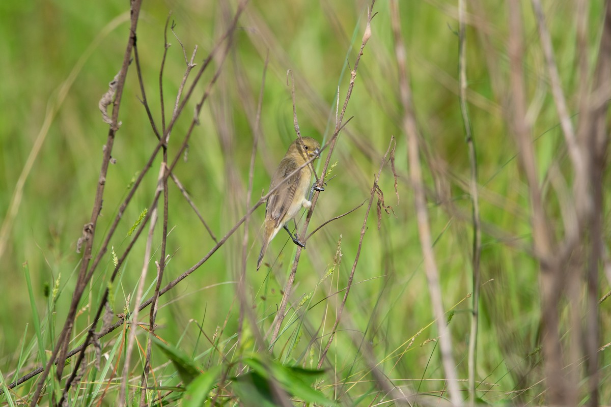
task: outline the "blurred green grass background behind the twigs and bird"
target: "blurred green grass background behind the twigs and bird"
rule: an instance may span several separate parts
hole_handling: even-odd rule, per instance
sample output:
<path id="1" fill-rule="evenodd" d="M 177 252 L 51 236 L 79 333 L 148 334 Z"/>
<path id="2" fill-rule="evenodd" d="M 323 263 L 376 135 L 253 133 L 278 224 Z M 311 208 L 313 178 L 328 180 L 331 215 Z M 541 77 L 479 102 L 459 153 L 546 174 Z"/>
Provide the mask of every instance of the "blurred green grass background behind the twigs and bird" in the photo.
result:
<path id="1" fill-rule="evenodd" d="M 467 184 L 469 159 L 458 100 L 458 11 L 455 2 L 400 3 L 414 107 L 424 139 L 425 177 L 430 189 L 428 209 L 444 306 L 454 311 L 449 325 L 454 355 L 459 377 L 466 378 L 472 229 Z M 484 284 L 477 379 L 485 384 L 481 384 L 478 395 L 488 403 L 513 400 L 536 404 L 543 400 L 544 391 L 540 383 L 541 356 L 538 353 L 539 275 L 538 265 L 530 255 L 527 185 L 519 171 L 518 151 L 503 115 L 503 106 L 511 97 L 508 90 L 507 5 L 504 1 L 480 0 L 468 4 L 471 23 L 467 28 L 468 102 L 478 150 L 478 184 L 484 224 L 481 263 Z M 190 84 L 199 64 L 227 27 L 228 16 L 233 16 L 235 7 L 235 1 L 144 2 L 137 27 L 137 45 L 148 103 L 158 126 L 161 121 L 159 67 L 168 13 L 171 10 L 170 23 L 175 22 L 174 31 L 185 46 L 186 54 L 190 57 L 194 46 L 198 46 L 195 59 L 198 66 L 189 77 L 187 83 Z M 533 123 L 538 170 L 543 177 L 552 160 L 562 157 L 565 147 L 547 85 L 532 9 L 527 2 L 523 9 L 529 117 Z M 544 11 L 569 109 L 576 112 L 579 77 L 574 5 L 547 1 Z M 429 340 L 435 339 L 437 334 L 431 325 L 433 315 L 408 181 L 397 63 L 387 2 L 376 2 L 375 12 L 377 15 L 371 24 L 373 34 L 362 56 L 346 110 L 346 118 L 353 119 L 340 134 L 331 159 L 331 163 L 337 162 L 333 171 L 335 178 L 321 193 L 309 228 L 313 231 L 320 223 L 368 199 L 373 176 L 394 136 L 400 201 L 397 202 L 393 192 L 392 171 L 386 165 L 380 187 L 386 204 L 391 205 L 393 211 L 390 215 L 382 212 L 378 228 L 374 201 L 354 285 L 340 332 L 331 348 L 332 355 L 329 355 L 334 360 L 335 376 L 331 375 L 326 385 L 332 384 L 331 378 L 337 383 L 356 383 L 346 384 L 344 389 L 348 394 L 343 397 L 353 401 L 367 394 L 367 389 L 373 386 L 367 382 L 370 370 L 360 353 L 363 342 L 373 350 L 378 368 L 395 380 L 397 386 L 439 395 L 443 384 L 437 379 L 444 377 L 436 342 Z M 601 13 L 602 5 L 592 2 L 587 50 L 591 65 L 596 61 Z M 217 238 L 224 236 L 247 207 L 266 193 L 271 173 L 296 137 L 287 70 L 293 71 L 296 81 L 296 105 L 302 134 L 321 142 L 329 139 L 334 128 L 336 94 L 339 92 L 341 105 L 366 16 L 367 2 L 364 1 L 254 0 L 249 3 L 238 23 L 222 73 L 202 109 L 200 125 L 192 134 L 188 159 L 181 160 L 174 171 Z M 31 326 L 33 313 L 24 272 L 31 275 L 36 308 L 43 325 L 47 326 L 44 328 L 47 336 L 48 324 L 54 323 L 56 331 L 63 326 L 81 261 L 81 254 L 76 253 L 76 241 L 91 216 L 102 146 L 108 134 L 98 101 L 120 69 L 128 29 L 126 1 L 0 2 L 0 220 L 12 222 L 0 259 L 3 296 L 0 370 L 7 381 L 40 364 L 32 345 L 35 341 Z M 166 57 L 163 89 L 169 120 L 185 72 L 185 57 L 177 38 L 170 31 L 167 35 L 171 46 Z M 255 160 L 253 198 L 247 204 L 246 187 L 254 139 L 252 109 L 257 106 L 268 53 L 261 118 L 263 138 Z M 218 63 L 218 59 L 214 60 L 211 69 L 204 73 L 194 97 L 172 131 L 168 149 L 170 159 L 180 146 L 196 101 L 214 70 L 218 69 Z M 132 64 L 120 107 L 122 126 L 112 150 L 117 161 L 109 168 L 106 179 L 94 255 L 125 198 L 128 185 L 156 145 L 140 98 Z M 40 151 L 33 156 L 31 171 L 24 179 L 18 212 L 10 218 L 9 206 L 18 179 L 37 142 L 42 143 Z M 326 153 L 320 161 L 324 159 Z M 119 256 L 130 240 L 127 234 L 131 226 L 150 206 L 159 163 L 158 157 L 111 239 L 111 246 Z M 569 173 L 568 160 L 561 158 L 560 165 Z M 559 219 L 555 197 L 550 194 L 547 198 L 550 213 Z M 265 259 L 273 264 L 271 272 L 269 267 L 263 267 L 255 273 L 264 212 L 263 207 L 255 211 L 249 226 L 246 273 L 247 301 L 263 332 L 269 329 L 280 303 L 295 253 L 293 243 L 280 233 Z M 608 212 L 607 204 L 605 213 Z M 295 347 L 284 349 L 283 358 L 287 359 L 283 360 L 294 360 L 307 367 L 312 367 L 310 359 L 314 365 L 318 361 L 314 355 L 320 350 L 309 348 L 307 344 L 310 336 L 321 336 L 323 344 L 326 343 L 356 256 L 364 214 L 365 206 L 329 223 L 308 240 L 299 263 L 293 304 L 297 306 L 302 296 L 315 292 L 311 308 L 300 314 L 304 321 L 301 327 L 304 337 Z M 171 181 L 169 229 L 167 254 L 170 260 L 163 284 L 199 261 L 214 245 Z M 609 222 L 604 230 L 609 247 Z M 155 261 L 159 259 L 160 234 L 158 225 L 153 243 Z M 241 270 L 242 237 L 243 228 L 240 228 L 210 261 L 160 298 L 156 331 L 159 336 L 170 343 L 180 339 L 181 347 L 188 353 L 198 353 L 210 345 L 198 342 L 199 329 L 192 322 L 201 323 L 209 337 L 218 332 L 218 327 L 224 326 L 222 336 L 228 342 L 222 343 L 230 351 L 240 312 L 235 282 Z M 325 278 L 340 237 L 342 263 Z M 144 245 L 144 238 L 136 243 L 122 267 L 119 283 L 112 287 L 112 307 L 116 314 L 123 312 L 128 294 L 132 293 L 133 298 L 142 268 Z M 101 291 L 112 273 L 110 252 L 102 262 L 82 301 L 82 312 L 75 328 L 77 337 L 90 323 Z M 27 268 L 23 267 L 24 263 Z M 154 276 L 155 264 L 151 262 L 145 287 L 151 284 Z M 51 301 L 45 297 L 45 287 L 53 287 L 57 281 L 59 294 L 56 304 L 51 306 Z M 602 295 L 608 287 L 602 277 L 601 286 Z M 609 342 L 606 328 L 610 315 L 606 308 L 601 312 L 603 345 Z M 142 316 L 142 320 L 148 320 L 148 315 Z M 26 325 L 29 329 L 24 333 Z M 287 325 L 287 331 L 280 336 L 282 347 L 278 348 L 292 344 L 293 335 L 298 335 L 299 328 L 295 324 Z M 319 326 L 321 330 L 317 332 Z M 411 345 L 414 336 L 417 337 Z M 53 340 L 51 337 L 45 340 L 49 341 L 46 349 L 51 349 Z M 75 345 L 76 342 L 78 340 Z M 22 344 L 32 349 L 31 358 L 20 372 L 15 372 Z M 601 352 L 601 358 L 604 368 L 601 381 L 604 383 L 609 376 L 605 352 Z M 162 362 L 161 357 L 155 361 L 156 364 Z M 18 387 L 17 394 L 28 394 L 29 386 L 31 384 Z M 611 397 L 608 386 L 604 386 L 603 394 L 607 400 Z"/>

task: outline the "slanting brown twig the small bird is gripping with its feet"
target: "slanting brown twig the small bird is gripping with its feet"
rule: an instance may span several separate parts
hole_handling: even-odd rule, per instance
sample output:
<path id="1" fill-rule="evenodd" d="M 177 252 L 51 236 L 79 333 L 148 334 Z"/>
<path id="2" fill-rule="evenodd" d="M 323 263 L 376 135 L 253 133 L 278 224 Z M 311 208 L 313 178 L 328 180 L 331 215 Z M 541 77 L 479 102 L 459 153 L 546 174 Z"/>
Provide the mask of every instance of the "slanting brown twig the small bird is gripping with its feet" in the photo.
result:
<path id="1" fill-rule="evenodd" d="M 318 186 L 322 187 L 323 185 L 322 182 L 324 180 L 324 176 L 327 173 L 327 168 L 329 168 L 329 162 L 331 161 L 331 156 L 333 154 L 333 151 L 335 149 L 335 143 L 337 142 L 337 137 L 339 135 L 340 129 L 342 129 L 343 125 L 342 125 L 342 121 L 343 121 L 343 117 L 346 113 L 346 108 L 348 107 L 348 101 L 350 100 L 350 96 L 352 95 L 352 91 L 354 88 L 354 81 L 356 80 L 356 73 L 357 73 L 357 68 L 359 67 L 359 61 L 360 61 L 360 57 L 363 55 L 363 49 L 365 48 L 365 45 L 367 44 L 367 41 L 369 40 L 369 38 L 371 37 L 371 19 L 373 18 L 374 14 L 373 14 L 373 5 L 375 4 L 375 0 L 371 1 L 371 5 L 370 7 L 368 7 L 367 10 L 367 26 L 365 27 L 365 32 L 363 34 L 363 38 L 360 44 L 360 49 L 359 49 L 359 54 L 357 54 L 356 57 L 356 61 L 354 62 L 354 68 L 351 71 L 351 77 L 350 77 L 350 82 L 348 85 L 348 91 L 346 92 L 346 98 L 344 99 L 344 103 L 343 103 L 343 107 L 342 110 L 340 112 L 339 117 L 337 118 L 337 120 L 335 121 L 335 131 L 333 136 L 331 137 L 331 140 L 329 140 L 329 142 L 326 144 L 327 146 L 329 146 L 329 152 L 327 154 L 327 159 L 324 162 L 324 166 L 323 166 L 323 171 L 321 172 L 320 178 L 318 179 Z M 293 100 L 295 100 L 293 98 Z M 293 108 L 293 112 L 295 112 L 295 108 Z M 296 119 L 295 119 L 296 120 Z M 304 225 L 302 226 L 302 230 L 301 233 L 299 234 L 299 236 L 303 236 L 305 234 L 305 232 L 307 231 L 307 227 L 310 224 L 310 219 L 312 218 L 312 214 L 313 211 L 316 207 L 316 203 L 318 202 L 318 195 L 320 194 L 320 191 L 315 190 L 314 195 L 312 196 L 312 206 L 310 206 L 309 211 L 307 212 L 307 216 L 305 217 L 305 222 Z M 293 261 L 293 267 L 291 268 L 291 273 L 288 276 L 288 281 L 287 284 L 285 286 L 285 290 L 284 290 L 284 295 L 282 296 L 282 301 L 280 301 L 280 307 L 278 309 L 278 312 L 276 314 L 276 319 L 274 320 L 274 323 L 272 324 L 274 326 L 274 331 L 272 333 L 271 336 L 271 346 L 270 346 L 270 351 L 273 349 L 274 346 L 274 342 L 276 342 L 276 339 L 278 337 L 278 333 L 280 332 L 280 326 L 282 325 L 282 322 L 284 321 L 284 318 L 286 316 L 285 311 L 287 309 L 287 303 L 288 303 L 288 298 L 291 294 L 291 289 L 293 288 L 293 281 L 295 281 L 295 274 L 297 272 L 297 265 L 299 264 L 299 257 L 301 256 L 301 251 L 302 248 L 301 247 L 297 247 L 297 251 L 295 254 L 295 260 Z"/>

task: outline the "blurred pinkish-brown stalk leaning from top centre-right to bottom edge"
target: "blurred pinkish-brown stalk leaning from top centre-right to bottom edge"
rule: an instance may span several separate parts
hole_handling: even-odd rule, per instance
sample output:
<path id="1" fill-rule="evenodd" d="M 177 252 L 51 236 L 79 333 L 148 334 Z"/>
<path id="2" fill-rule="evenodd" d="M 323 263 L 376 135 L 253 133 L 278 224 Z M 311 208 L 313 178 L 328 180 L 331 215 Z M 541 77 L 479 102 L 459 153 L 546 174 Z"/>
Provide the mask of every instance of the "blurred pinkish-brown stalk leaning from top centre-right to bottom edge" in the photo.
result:
<path id="1" fill-rule="evenodd" d="M 445 378 L 450 392 L 450 400 L 453 405 L 461 406 L 463 399 L 458 388 L 458 378 L 456 376 L 456 365 L 452 356 L 452 337 L 450 330 L 445 322 L 445 311 L 439 284 L 439 272 L 433 253 L 433 240 L 431 239 L 431 229 L 428 221 L 428 211 L 426 209 L 426 196 L 424 181 L 422 178 L 422 168 L 420 167 L 420 134 L 417 128 L 414 109 L 412 106 L 411 89 L 409 85 L 407 57 L 401 35 L 401 21 L 399 18 L 399 5 L 397 0 L 390 1 L 390 16 L 392 31 L 395 38 L 395 55 L 399 71 L 399 89 L 401 104 L 403 105 L 402 127 L 403 133 L 408 140 L 408 161 L 409 176 L 414 188 L 414 206 L 418 223 L 418 233 L 420 245 L 422 246 L 422 256 L 424 260 L 426 281 L 431 295 L 431 306 L 433 315 L 437 321 L 439 331 L 439 348 L 441 350 L 441 361 L 444 366 Z"/>

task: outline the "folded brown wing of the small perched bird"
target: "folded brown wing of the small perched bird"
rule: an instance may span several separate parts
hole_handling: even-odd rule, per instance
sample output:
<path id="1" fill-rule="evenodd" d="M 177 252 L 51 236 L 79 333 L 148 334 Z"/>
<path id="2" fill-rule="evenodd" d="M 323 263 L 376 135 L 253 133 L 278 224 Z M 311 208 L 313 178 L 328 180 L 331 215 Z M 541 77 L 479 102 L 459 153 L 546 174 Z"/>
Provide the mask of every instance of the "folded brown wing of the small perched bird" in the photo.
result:
<path id="1" fill-rule="evenodd" d="M 290 173 L 295 171 L 297 168 L 299 168 L 299 165 L 297 165 L 295 159 L 285 157 L 280 162 L 280 165 L 278 165 L 276 173 L 274 173 L 274 176 L 271 179 L 269 189 L 271 190 L 276 187 L 276 185 L 280 184 L 280 181 L 287 178 L 287 175 L 290 175 Z M 287 181 L 280 185 L 276 192 L 268 197 L 266 213 L 269 217 L 276 221 L 276 226 L 278 226 L 285 217 L 288 208 L 291 206 L 291 202 L 295 198 L 297 186 L 301 180 L 301 173 L 302 171 L 298 171 L 296 174 L 292 175 Z"/>

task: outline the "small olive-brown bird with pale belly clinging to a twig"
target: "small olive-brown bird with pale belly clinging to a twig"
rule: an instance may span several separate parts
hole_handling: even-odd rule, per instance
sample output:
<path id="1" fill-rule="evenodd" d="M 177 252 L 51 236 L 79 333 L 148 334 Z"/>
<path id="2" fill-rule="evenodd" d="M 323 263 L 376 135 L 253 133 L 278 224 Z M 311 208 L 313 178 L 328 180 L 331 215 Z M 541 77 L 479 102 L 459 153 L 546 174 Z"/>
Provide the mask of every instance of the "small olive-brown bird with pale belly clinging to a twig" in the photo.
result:
<path id="1" fill-rule="evenodd" d="M 274 189 L 293 171 L 304 165 L 312 157 L 318 156 L 318 154 L 320 154 L 320 144 L 312 137 L 296 139 L 291 143 L 287 154 L 276 168 L 276 172 L 271 178 L 271 184 L 269 184 L 269 190 Z M 290 176 L 274 193 L 268 196 L 267 206 L 265 207 L 265 222 L 263 223 L 265 229 L 263 231 L 263 247 L 257 261 L 257 270 L 261 267 L 263 255 L 269 242 L 274 239 L 280 228 L 284 228 L 291 235 L 291 239 L 296 245 L 305 247 L 304 243 L 299 241 L 297 234 L 293 236 L 288 230 L 287 222 L 299 213 L 301 207 L 309 208 L 312 206 L 312 203 L 308 200 L 309 196 L 307 196 L 312 181 L 312 173 L 313 169 L 310 163 Z"/>

